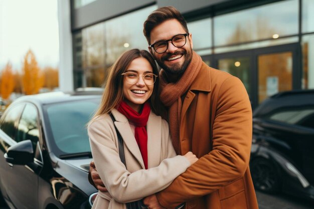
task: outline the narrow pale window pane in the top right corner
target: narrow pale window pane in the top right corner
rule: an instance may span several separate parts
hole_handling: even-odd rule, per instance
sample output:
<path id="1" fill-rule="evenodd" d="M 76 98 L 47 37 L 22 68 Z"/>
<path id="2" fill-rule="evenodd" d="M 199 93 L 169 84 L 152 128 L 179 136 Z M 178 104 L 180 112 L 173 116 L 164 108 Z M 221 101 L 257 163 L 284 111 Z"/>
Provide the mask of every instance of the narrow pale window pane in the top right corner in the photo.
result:
<path id="1" fill-rule="evenodd" d="M 314 1 L 302 0 L 302 32 L 314 32 Z"/>

